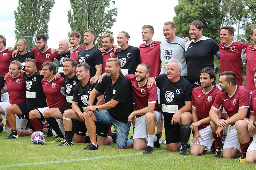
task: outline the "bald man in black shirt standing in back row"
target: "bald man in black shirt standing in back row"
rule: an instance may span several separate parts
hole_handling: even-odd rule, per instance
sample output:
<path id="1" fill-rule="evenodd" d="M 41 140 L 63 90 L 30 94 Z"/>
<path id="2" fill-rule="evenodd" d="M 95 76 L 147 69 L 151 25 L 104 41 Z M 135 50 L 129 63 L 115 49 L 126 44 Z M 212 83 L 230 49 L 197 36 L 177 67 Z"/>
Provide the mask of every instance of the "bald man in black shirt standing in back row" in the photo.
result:
<path id="1" fill-rule="evenodd" d="M 61 77 L 64 78 L 63 71 L 63 61 L 65 59 L 70 59 L 70 50 L 69 50 L 69 41 L 67 39 L 61 39 L 59 42 L 59 50 L 60 50 L 60 62 L 58 73 L 60 73 Z"/>

